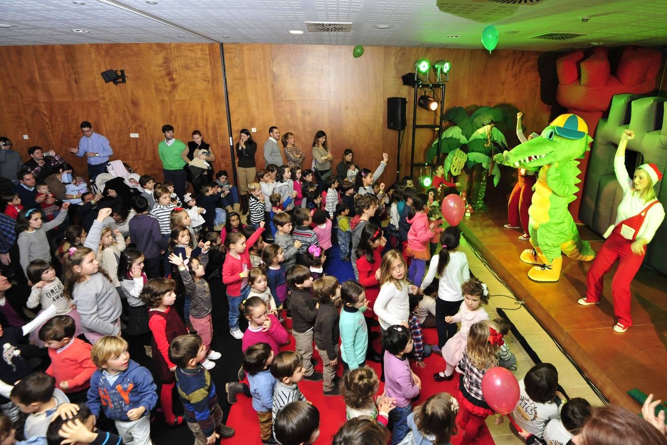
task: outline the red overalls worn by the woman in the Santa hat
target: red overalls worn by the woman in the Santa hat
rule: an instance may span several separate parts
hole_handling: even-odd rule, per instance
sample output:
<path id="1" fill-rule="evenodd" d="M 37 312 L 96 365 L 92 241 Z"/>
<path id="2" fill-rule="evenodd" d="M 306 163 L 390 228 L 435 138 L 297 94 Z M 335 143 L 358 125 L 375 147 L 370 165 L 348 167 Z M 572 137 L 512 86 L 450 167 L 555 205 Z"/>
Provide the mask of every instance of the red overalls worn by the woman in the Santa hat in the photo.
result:
<path id="1" fill-rule="evenodd" d="M 632 295 L 630 294 L 630 283 L 634 278 L 635 274 L 642 266 L 644 261 L 644 254 L 646 253 L 646 248 L 644 248 L 644 254 L 635 255 L 632 253 L 630 246 L 632 242 L 636 240 L 637 233 L 642 224 L 644 224 L 644 219 L 646 219 L 646 213 L 653 205 L 658 203 L 658 200 L 653 201 L 648 206 L 632 217 L 620 221 L 616 224 L 614 231 L 607 238 L 607 240 L 602 245 L 602 249 L 595 257 L 593 264 L 588 271 L 588 277 L 586 278 L 586 300 L 588 302 L 599 302 L 600 297 L 602 296 L 602 288 L 604 287 L 604 274 L 610 271 L 616 260 L 618 262 L 618 269 L 614 278 L 612 280 L 612 298 L 614 299 L 614 316 L 618 318 L 618 322 L 624 326 L 632 326 L 632 314 L 630 313 L 630 300 Z M 627 240 L 621 236 L 622 226 L 628 226 L 631 229 L 634 229 L 634 234 L 632 235 L 632 240 Z"/>

